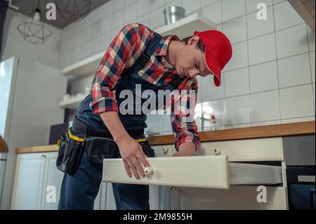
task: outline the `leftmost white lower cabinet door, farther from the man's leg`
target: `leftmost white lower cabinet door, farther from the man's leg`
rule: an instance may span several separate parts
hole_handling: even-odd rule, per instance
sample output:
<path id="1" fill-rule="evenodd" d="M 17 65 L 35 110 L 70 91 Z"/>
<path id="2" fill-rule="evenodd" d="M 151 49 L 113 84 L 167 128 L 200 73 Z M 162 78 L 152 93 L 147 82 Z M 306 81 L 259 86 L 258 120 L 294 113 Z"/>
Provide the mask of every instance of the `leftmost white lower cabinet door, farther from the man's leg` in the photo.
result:
<path id="1" fill-rule="evenodd" d="M 11 209 L 41 209 L 45 154 L 19 154 Z"/>

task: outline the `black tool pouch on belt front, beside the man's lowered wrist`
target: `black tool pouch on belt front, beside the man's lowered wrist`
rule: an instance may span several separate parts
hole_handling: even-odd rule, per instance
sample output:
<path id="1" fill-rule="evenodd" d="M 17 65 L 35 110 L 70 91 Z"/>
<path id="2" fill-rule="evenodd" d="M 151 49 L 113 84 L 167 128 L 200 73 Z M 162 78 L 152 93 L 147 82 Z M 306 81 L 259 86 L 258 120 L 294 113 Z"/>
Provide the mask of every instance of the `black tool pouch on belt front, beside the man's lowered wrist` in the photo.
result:
<path id="1" fill-rule="evenodd" d="M 91 136 L 86 138 L 86 152 L 88 162 L 92 164 L 103 164 L 103 159 L 114 158 L 119 152 L 117 143 L 112 138 Z"/>

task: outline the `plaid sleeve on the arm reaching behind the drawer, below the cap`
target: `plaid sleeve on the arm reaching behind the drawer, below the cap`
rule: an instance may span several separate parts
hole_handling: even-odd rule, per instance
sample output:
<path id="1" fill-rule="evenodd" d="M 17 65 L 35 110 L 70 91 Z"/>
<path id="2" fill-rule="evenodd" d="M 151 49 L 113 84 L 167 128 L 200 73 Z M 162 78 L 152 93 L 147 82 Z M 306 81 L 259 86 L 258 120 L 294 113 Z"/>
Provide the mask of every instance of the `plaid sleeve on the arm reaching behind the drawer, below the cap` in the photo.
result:
<path id="1" fill-rule="evenodd" d="M 175 147 L 177 151 L 179 146 L 185 142 L 194 143 L 196 152 L 199 150 L 199 133 L 197 132 L 197 124 L 194 119 L 197 88 L 197 81 L 195 81 L 190 91 L 182 91 L 180 107 L 171 114 L 171 126 L 176 139 Z"/>

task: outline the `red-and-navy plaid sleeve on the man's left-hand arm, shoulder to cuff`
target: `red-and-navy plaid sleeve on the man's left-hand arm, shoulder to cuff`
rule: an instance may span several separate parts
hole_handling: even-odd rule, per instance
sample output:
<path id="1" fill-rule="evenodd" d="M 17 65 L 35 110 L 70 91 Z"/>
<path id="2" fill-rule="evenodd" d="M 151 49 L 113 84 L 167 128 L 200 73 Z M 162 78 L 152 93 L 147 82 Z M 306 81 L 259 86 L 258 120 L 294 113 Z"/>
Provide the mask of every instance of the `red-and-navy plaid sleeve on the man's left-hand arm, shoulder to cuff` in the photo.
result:
<path id="1" fill-rule="evenodd" d="M 94 114 L 118 111 L 113 90 L 121 72 L 131 67 L 145 51 L 150 29 L 145 25 L 131 23 L 121 28 L 107 48 L 100 67 L 93 77 L 90 108 Z"/>

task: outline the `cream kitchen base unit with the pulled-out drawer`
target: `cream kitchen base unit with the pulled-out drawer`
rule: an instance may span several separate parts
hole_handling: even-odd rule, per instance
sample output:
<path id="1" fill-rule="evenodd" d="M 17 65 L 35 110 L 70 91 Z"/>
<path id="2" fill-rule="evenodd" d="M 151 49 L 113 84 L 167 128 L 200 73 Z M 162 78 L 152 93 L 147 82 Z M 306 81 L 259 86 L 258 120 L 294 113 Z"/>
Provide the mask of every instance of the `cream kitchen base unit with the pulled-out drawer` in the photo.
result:
<path id="1" fill-rule="evenodd" d="M 150 169 L 145 169 L 145 178 L 129 178 L 121 159 L 105 159 L 103 181 L 169 185 L 170 209 L 288 207 L 282 137 L 202 143 L 194 157 L 170 157 L 175 152 L 173 145 L 153 149 L 157 158 L 148 159 Z M 279 166 L 262 162 L 277 162 Z M 261 193 L 263 201 L 257 200 Z"/>

